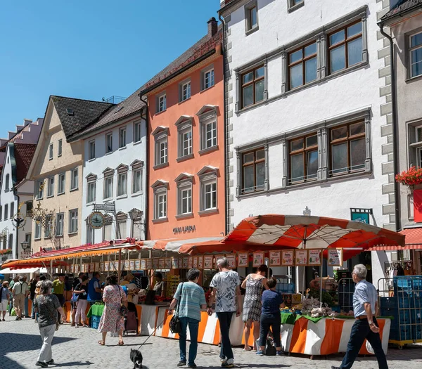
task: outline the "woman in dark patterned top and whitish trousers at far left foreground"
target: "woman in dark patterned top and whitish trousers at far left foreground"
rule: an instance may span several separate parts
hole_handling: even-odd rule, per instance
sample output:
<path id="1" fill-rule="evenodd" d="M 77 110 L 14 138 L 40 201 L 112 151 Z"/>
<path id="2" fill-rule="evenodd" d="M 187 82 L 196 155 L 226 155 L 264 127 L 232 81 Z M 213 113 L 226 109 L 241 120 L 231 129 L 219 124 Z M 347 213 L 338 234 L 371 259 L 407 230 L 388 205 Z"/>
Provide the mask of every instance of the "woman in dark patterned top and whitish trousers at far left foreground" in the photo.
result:
<path id="1" fill-rule="evenodd" d="M 60 313 L 63 320 L 66 318 L 58 298 L 56 295 L 51 294 L 52 288 L 53 282 L 51 280 L 43 280 L 39 287 L 39 296 L 35 300 L 35 311 L 38 313 L 38 328 L 42 339 L 41 351 L 39 351 L 35 365 L 41 366 L 41 368 L 47 368 L 49 364 L 54 363 L 51 342 L 58 323 L 57 313 Z"/>

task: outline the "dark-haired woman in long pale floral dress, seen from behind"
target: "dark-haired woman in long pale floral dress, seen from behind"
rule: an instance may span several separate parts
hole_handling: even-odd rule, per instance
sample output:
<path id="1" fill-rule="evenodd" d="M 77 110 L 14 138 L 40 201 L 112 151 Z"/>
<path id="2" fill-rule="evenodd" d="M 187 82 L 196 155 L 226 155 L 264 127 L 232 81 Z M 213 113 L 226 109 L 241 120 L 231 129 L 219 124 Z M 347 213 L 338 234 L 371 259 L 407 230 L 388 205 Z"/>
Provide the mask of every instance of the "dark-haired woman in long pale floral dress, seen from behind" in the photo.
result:
<path id="1" fill-rule="evenodd" d="M 109 285 L 104 288 L 103 292 L 103 302 L 106 306 L 98 325 L 98 332 L 102 333 L 103 339 L 98 341 L 98 344 L 102 346 L 106 344 L 107 332 L 117 332 L 119 335 L 118 345 L 123 346 L 124 319 L 120 315 L 120 306 L 122 303 L 127 304 L 127 297 L 117 283 L 117 276 L 110 276 L 108 283 Z"/>

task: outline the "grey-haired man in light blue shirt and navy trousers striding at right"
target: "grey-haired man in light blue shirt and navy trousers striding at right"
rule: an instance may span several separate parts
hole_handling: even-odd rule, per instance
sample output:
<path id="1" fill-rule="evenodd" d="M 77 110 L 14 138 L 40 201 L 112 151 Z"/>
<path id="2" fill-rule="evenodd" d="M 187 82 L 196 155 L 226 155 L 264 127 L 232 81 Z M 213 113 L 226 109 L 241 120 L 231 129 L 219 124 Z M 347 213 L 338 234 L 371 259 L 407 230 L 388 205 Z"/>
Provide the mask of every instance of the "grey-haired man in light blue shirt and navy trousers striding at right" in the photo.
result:
<path id="1" fill-rule="evenodd" d="M 350 369 L 356 360 L 359 350 L 365 339 L 371 344 L 379 369 L 388 369 L 387 360 L 381 344 L 380 328 L 376 321 L 378 310 L 376 288 L 372 283 L 366 282 L 366 267 L 357 264 L 353 268 L 353 281 L 356 283 L 353 294 L 353 312 L 356 321 L 352 326 L 350 341 L 340 368 L 332 366 L 331 369 Z"/>

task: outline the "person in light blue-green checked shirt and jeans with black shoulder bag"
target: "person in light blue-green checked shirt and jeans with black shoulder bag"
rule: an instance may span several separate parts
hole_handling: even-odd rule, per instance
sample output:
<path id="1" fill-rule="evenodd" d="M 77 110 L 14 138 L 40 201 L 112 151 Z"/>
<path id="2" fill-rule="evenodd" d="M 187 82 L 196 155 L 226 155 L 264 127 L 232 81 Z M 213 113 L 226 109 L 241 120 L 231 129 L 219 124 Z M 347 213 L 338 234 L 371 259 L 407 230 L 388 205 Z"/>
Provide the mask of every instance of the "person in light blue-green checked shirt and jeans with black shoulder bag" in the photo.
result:
<path id="1" fill-rule="evenodd" d="M 181 332 L 179 333 L 180 362 L 177 366 L 186 365 L 186 328 L 189 325 L 191 344 L 189 346 L 188 368 L 196 368 L 195 359 L 198 351 L 200 311 L 207 309 L 204 290 L 198 285 L 199 275 L 200 271 L 198 269 L 189 269 L 187 273 L 188 282 L 180 283 L 177 286 L 169 311 L 171 314 L 174 306 L 179 302 L 178 315 Z"/>

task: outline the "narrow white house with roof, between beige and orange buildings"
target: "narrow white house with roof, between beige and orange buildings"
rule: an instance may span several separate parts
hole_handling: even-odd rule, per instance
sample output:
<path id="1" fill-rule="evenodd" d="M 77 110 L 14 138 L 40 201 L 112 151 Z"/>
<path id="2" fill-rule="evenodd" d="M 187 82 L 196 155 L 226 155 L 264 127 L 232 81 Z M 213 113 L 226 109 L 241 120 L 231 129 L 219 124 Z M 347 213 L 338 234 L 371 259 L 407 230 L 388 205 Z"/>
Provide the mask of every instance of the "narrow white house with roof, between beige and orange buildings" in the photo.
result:
<path id="1" fill-rule="evenodd" d="M 143 103 L 134 95 L 82 132 L 82 243 L 145 240 L 146 119 Z M 101 211 L 105 223 L 93 228 L 89 215 L 94 205 L 113 203 L 115 212 Z"/>

